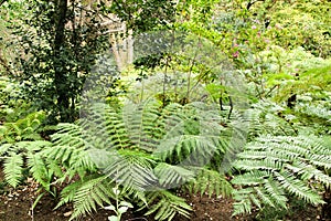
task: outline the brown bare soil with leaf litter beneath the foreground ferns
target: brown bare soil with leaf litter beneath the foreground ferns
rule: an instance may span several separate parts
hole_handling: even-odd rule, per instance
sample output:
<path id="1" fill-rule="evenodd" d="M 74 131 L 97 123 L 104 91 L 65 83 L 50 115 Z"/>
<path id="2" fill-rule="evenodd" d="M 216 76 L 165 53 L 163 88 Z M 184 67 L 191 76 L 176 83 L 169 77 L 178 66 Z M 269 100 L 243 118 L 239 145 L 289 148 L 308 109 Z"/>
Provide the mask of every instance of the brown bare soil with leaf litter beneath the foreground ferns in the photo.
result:
<path id="1" fill-rule="evenodd" d="M 63 206 L 53 210 L 56 202 L 52 196 L 44 196 L 32 210 L 32 204 L 38 197 L 38 185 L 32 180 L 25 182 L 24 186 L 18 187 L 15 190 L 3 186 L 3 175 L 0 169 L 0 221 L 67 221 L 72 214 L 72 204 Z M 183 196 L 182 196 L 183 197 Z M 184 196 L 188 203 L 193 207 L 190 219 L 177 217 L 174 221 L 232 221 L 246 220 L 254 221 L 255 213 L 245 217 L 232 217 L 231 199 L 225 198 L 209 198 L 207 196 Z M 321 219 L 321 209 L 309 208 L 293 208 L 290 214 L 285 215 L 281 220 L 306 221 L 306 220 L 321 220 L 329 221 L 331 219 Z M 98 213 L 82 218 L 82 221 L 107 221 L 107 217 L 111 214 L 110 211 L 99 209 Z M 143 217 L 143 213 L 128 211 L 124 221 L 152 221 L 152 217 Z M 263 218 L 260 220 L 275 220 L 275 217 Z"/>

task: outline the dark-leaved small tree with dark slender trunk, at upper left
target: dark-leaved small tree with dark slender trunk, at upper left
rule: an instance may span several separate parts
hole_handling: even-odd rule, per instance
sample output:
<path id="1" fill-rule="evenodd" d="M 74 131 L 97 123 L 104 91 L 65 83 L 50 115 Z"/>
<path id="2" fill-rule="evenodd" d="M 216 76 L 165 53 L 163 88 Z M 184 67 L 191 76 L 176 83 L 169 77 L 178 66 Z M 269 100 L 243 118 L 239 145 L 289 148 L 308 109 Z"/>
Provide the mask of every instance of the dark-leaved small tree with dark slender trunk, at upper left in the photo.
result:
<path id="1" fill-rule="evenodd" d="M 105 35 L 96 29 L 100 21 L 77 2 L 64 9 L 46 1 L 24 1 L 23 7 L 34 10 L 10 25 L 15 48 L 24 54 L 15 57 L 15 78 L 25 98 L 52 113 L 53 123 L 58 117 L 73 122 L 84 81 L 105 45 Z M 60 18 L 62 10 L 65 18 Z"/>

